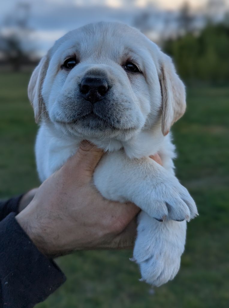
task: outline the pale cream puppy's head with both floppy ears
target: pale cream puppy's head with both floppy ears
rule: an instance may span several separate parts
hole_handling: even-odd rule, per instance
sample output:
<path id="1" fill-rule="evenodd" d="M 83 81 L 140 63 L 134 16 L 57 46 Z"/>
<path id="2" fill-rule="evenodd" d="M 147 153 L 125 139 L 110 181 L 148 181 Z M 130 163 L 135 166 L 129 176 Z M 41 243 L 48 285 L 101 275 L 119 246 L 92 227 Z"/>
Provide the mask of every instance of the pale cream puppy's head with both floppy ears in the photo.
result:
<path id="1" fill-rule="evenodd" d="M 185 110 L 168 56 L 138 30 L 90 24 L 56 41 L 29 82 L 35 119 L 84 138 L 127 140 L 161 121 L 166 135 Z"/>

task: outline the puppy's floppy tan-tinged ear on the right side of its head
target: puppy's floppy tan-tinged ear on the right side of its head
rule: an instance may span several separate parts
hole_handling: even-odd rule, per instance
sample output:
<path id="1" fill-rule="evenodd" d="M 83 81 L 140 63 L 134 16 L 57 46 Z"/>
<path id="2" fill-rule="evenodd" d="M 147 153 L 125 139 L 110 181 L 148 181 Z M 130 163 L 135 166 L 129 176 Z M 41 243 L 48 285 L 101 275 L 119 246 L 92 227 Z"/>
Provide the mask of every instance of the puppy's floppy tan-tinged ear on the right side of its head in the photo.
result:
<path id="1" fill-rule="evenodd" d="M 183 82 L 178 77 L 170 57 L 162 53 L 161 58 L 161 92 L 162 92 L 162 124 L 163 135 L 167 135 L 170 127 L 184 114 L 186 94 Z"/>

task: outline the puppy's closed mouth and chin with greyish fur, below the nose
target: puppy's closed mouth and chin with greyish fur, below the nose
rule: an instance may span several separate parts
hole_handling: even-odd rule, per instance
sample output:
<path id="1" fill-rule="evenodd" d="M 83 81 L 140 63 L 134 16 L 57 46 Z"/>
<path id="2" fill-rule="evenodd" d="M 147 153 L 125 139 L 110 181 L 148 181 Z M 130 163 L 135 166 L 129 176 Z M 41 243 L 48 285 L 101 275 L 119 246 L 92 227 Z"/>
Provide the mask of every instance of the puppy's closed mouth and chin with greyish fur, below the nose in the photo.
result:
<path id="1" fill-rule="evenodd" d="M 138 129 L 138 121 L 132 120 L 125 108 L 109 100 L 94 105 L 83 101 L 72 110 L 66 107 L 52 122 L 76 136 L 127 137 Z"/>

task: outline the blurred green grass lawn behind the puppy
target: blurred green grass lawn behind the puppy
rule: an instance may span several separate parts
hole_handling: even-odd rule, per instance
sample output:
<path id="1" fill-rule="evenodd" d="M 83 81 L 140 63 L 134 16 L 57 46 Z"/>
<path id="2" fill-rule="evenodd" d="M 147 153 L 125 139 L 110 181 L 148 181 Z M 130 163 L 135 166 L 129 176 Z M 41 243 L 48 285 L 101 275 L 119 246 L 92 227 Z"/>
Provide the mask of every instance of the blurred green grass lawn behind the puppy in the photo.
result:
<path id="1" fill-rule="evenodd" d="M 37 126 L 27 99 L 28 73 L 0 74 L 0 197 L 38 185 Z M 223 308 L 229 305 L 229 87 L 188 88 L 185 116 L 173 128 L 177 176 L 200 216 L 188 224 L 179 274 L 160 288 L 139 282 L 131 251 L 62 257 L 67 282 L 40 308 Z"/>

